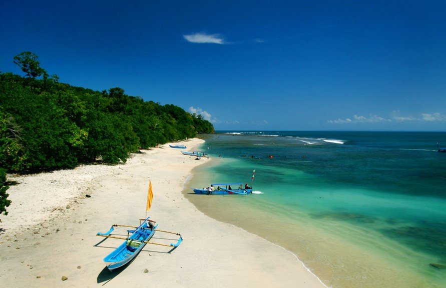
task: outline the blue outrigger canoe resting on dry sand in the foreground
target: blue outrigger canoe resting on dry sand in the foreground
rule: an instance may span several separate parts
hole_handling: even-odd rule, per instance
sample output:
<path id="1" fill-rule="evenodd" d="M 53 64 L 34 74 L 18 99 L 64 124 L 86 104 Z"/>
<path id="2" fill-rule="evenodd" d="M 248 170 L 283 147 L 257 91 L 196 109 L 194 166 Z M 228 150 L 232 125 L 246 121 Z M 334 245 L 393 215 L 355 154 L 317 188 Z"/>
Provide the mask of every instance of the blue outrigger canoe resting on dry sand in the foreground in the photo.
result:
<path id="1" fill-rule="evenodd" d="M 151 220 L 149 220 L 149 217 L 146 219 L 142 219 L 144 222 L 141 223 L 138 227 L 135 226 L 128 226 L 128 225 L 118 225 L 114 224 L 110 230 L 108 230 L 105 233 L 98 232 L 98 236 L 104 236 L 108 238 L 117 238 L 117 239 L 125 239 L 125 241 L 117 247 L 114 251 L 112 251 L 110 254 L 108 254 L 105 258 L 105 262 L 110 262 L 111 264 L 107 265 L 108 269 L 110 271 L 119 268 L 121 266 L 124 266 L 125 264 L 131 262 L 138 253 L 144 248 L 144 246 L 149 244 L 157 244 L 157 245 L 163 245 L 163 246 L 170 246 L 172 249 L 175 249 L 178 247 L 178 245 L 182 242 L 183 238 L 179 233 L 173 233 L 168 231 L 162 231 L 162 232 L 168 232 L 180 235 L 180 238 L 178 239 L 178 242 L 170 245 L 167 244 L 161 244 L 161 243 L 152 243 L 149 242 L 149 240 L 152 238 L 152 236 L 155 234 L 156 228 L 158 227 L 158 224 L 153 225 Z M 114 231 L 114 227 L 116 226 L 125 226 L 125 227 L 134 227 L 134 230 L 127 230 L 127 238 L 119 237 L 119 236 L 113 236 L 112 232 Z M 159 230 L 161 231 L 161 230 Z M 131 235 L 130 235 L 131 234 Z M 130 236 L 129 236 L 130 235 Z M 169 251 L 169 252 L 170 252 Z"/>

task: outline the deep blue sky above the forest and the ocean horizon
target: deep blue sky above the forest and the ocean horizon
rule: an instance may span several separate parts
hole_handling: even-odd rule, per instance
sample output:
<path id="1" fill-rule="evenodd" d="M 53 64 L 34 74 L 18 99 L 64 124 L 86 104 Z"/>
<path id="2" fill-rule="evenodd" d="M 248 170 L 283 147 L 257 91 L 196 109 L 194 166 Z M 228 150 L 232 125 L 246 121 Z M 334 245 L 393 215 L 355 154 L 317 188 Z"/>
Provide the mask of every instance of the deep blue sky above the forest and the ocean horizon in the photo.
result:
<path id="1" fill-rule="evenodd" d="M 217 130 L 446 130 L 446 1 L 2 1 L 22 51 Z"/>

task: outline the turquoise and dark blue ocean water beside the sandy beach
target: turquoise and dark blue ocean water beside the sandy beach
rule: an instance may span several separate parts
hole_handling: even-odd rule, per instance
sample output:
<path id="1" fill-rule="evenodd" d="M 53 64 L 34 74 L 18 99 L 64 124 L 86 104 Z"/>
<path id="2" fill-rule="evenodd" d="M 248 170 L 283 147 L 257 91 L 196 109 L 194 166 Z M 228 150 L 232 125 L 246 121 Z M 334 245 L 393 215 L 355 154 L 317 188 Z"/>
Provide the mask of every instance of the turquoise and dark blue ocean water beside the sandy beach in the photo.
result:
<path id="1" fill-rule="evenodd" d="M 327 286 L 446 287 L 446 132 L 201 137 L 213 160 L 184 192 L 206 214 L 283 246 Z M 238 181 L 256 193 L 191 190 Z"/>

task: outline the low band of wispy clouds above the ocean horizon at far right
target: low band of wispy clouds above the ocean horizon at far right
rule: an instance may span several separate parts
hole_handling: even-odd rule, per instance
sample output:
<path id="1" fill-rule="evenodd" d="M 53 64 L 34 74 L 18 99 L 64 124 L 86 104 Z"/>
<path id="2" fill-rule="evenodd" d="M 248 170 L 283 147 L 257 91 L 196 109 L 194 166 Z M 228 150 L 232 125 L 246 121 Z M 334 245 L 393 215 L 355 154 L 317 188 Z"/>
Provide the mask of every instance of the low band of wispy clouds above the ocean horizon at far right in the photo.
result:
<path id="1" fill-rule="evenodd" d="M 408 121 L 446 121 L 446 115 L 441 113 L 421 113 L 418 116 L 401 115 L 399 110 L 391 112 L 390 118 L 384 118 L 376 114 L 370 114 L 368 117 L 354 115 L 353 118 L 328 120 L 329 123 L 334 124 L 348 124 L 348 123 L 377 123 L 377 122 L 408 122 Z"/>

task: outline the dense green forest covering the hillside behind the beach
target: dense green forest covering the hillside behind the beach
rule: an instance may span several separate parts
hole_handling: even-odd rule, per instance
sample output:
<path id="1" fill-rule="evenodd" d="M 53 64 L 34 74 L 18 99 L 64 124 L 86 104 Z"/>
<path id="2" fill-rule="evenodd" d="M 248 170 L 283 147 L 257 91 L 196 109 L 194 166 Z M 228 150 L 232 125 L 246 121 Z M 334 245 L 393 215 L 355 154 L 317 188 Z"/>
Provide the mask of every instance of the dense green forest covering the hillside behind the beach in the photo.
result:
<path id="1" fill-rule="evenodd" d="M 0 72 L 0 213 L 9 204 L 5 170 L 116 164 L 139 148 L 214 132 L 201 115 L 144 101 L 120 87 L 94 91 L 61 83 L 32 52 L 16 55 L 14 62 L 24 77 Z"/>

